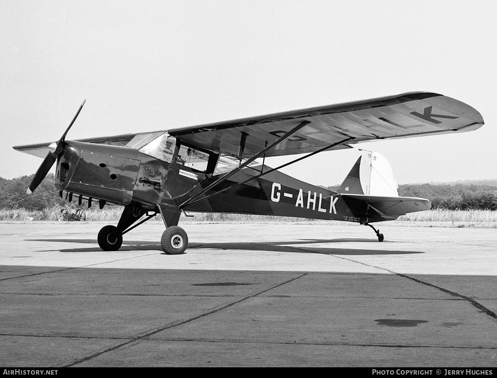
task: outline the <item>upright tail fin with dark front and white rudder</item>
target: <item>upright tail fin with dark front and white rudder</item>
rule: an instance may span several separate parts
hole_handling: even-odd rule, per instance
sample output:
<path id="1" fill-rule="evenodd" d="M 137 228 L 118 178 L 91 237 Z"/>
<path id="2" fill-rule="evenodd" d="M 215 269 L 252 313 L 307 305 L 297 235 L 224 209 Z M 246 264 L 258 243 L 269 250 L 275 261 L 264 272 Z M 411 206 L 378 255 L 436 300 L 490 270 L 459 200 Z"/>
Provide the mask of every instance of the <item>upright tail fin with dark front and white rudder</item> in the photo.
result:
<path id="1" fill-rule="evenodd" d="M 364 151 L 339 189 L 340 193 L 397 197 L 392 167 L 383 155 Z"/>

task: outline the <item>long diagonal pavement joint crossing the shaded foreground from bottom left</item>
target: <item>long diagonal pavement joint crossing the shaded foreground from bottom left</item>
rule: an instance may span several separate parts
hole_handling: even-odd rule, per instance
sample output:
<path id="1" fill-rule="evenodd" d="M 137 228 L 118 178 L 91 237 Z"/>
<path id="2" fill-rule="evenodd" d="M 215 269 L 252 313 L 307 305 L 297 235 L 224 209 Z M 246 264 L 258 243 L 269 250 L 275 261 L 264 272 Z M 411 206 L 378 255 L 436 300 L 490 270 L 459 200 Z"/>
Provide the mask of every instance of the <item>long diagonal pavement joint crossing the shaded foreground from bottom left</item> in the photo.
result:
<path id="1" fill-rule="evenodd" d="M 128 340 L 127 340 L 127 341 L 125 341 L 125 342 L 123 342 L 123 343 L 120 343 L 120 344 L 115 345 L 115 346 L 110 347 L 110 348 L 106 348 L 106 349 L 104 349 L 103 351 L 93 353 L 93 354 L 91 354 L 91 355 L 89 355 L 89 356 L 83 357 L 83 358 L 81 358 L 81 359 L 79 359 L 79 360 L 76 360 L 76 361 L 73 361 L 73 362 L 71 362 L 71 363 L 64 364 L 62 367 L 63 367 L 63 368 L 69 368 L 69 367 L 72 367 L 72 366 L 76 366 L 76 365 L 81 364 L 81 363 L 83 363 L 83 362 L 89 361 L 89 360 L 91 360 L 91 359 L 93 359 L 93 358 L 95 358 L 95 357 L 101 356 L 101 355 L 102 355 L 102 354 L 104 354 L 104 353 L 112 352 L 112 351 L 117 350 L 117 349 L 119 349 L 119 348 L 126 347 L 126 346 L 128 346 L 128 345 L 131 345 L 131 344 L 133 344 L 133 343 L 135 343 L 135 342 L 137 342 L 137 341 L 140 341 L 140 340 L 146 339 L 146 338 L 148 338 L 148 337 L 150 337 L 150 336 L 152 336 L 152 335 L 155 335 L 156 333 L 159 333 L 159 332 L 165 331 L 166 329 L 173 328 L 173 327 L 177 327 L 177 326 L 180 326 L 180 325 L 183 325 L 183 324 L 186 324 L 186 323 L 190 323 L 190 322 L 192 322 L 192 321 L 194 321 L 194 320 L 198 320 L 198 319 L 201 319 L 201 318 L 203 318 L 203 317 L 206 317 L 206 316 L 212 315 L 212 314 L 214 314 L 214 313 L 216 313 L 216 312 L 219 312 L 219 311 L 222 311 L 222 310 L 224 310 L 224 309 L 226 309 L 226 308 L 232 307 L 232 306 L 234 306 L 235 304 L 241 303 L 241 302 L 246 301 L 246 300 L 248 300 L 248 299 L 250 299 L 250 298 L 253 298 L 253 297 L 257 296 L 257 295 L 260 295 L 260 294 L 262 294 L 262 293 L 264 293 L 264 292 L 270 291 L 270 290 L 272 290 L 272 289 L 274 289 L 274 288 L 276 288 L 276 287 L 279 287 L 279 286 L 285 285 L 285 284 L 287 284 L 287 283 L 291 283 L 291 282 L 293 282 L 293 281 L 299 280 L 299 279 L 301 279 L 302 277 L 305 277 L 305 276 L 307 276 L 307 275 L 308 275 L 307 273 L 300 274 L 300 275 L 298 275 L 297 277 L 294 277 L 294 278 L 292 278 L 292 279 L 290 279 L 290 280 L 286 280 L 286 281 L 281 282 L 281 283 L 276 283 L 276 284 L 273 284 L 273 285 L 269 286 L 268 288 L 265 288 L 265 289 L 262 289 L 262 290 L 257 290 L 257 291 L 255 291 L 255 292 L 253 292 L 253 293 L 251 293 L 251 294 L 248 294 L 248 295 L 246 295 L 246 296 L 244 296 L 244 297 L 242 297 L 242 298 L 240 298 L 240 299 L 237 299 L 237 300 L 235 300 L 235 301 L 233 301 L 233 302 L 231 302 L 231 303 L 228 303 L 228 304 L 224 304 L 224 305 L 221 305 L 221 306 L 214 307 L 213 309 L 211 309 L 211 310 L 209 310 L 209 311 L 207 311 L 207 312 L 204 312 L 204 313 L 202 313 L 202 314 L 200 314 L 200 315 L 196 315 L 196 316 L 193 316 L 193 317 L 191 317 L 191 318 L 184 319 L 184 320 L 177 320 L 177 321 L 174 321 L 174 322 L 168 323 L 168 324 L 166 324 L 165 326 L 161 326 L 161 327 L 159 327 L 159 328 L 155 328 L 155 329 L 152 329 L 152 330 L 149 330 L 149 331 L 143 332 L 143 333 L 141 333 L 141 334 L 135 335 L 135 336 L 134 336 L 134 337 L 132 337 L 132 338 L 128 338 Z"/>

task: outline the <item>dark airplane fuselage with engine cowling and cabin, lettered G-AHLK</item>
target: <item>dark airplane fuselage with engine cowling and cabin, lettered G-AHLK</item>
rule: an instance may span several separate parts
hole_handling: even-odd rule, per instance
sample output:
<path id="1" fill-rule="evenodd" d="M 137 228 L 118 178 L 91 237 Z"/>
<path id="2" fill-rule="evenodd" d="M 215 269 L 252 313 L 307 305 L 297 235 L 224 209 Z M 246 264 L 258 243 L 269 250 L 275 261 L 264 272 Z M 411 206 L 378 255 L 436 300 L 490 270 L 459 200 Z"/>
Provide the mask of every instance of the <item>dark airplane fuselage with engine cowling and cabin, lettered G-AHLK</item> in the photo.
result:
<path id="1" fill-rule="evenodd" d="M 334 219 L 387 220 L 363 203 L 253 163 L 211 190 L 209 185 L 240 161 L 183 145 L 167 133 L 138 148 L 67 141 L 55 187 L 86 198 L 145 210 L 222 212 Z M 391 219 L 391 218 L 390 218 Z M 177 222 L 177 221 L 176 221 Z"/>

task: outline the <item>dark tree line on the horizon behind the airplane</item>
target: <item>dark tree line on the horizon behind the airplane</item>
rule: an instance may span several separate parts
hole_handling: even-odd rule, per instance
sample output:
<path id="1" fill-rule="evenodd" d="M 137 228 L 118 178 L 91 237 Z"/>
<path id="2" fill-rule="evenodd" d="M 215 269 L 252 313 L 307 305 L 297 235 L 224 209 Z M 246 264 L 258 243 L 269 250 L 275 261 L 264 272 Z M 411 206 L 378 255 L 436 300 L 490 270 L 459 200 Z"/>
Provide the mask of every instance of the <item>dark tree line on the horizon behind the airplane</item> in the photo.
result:
<path id="1" fill-rule="evenodd" d="M 53 174 L 47 175 L 32 194 L 26 194 L 33 176 L 11 180 L 0 177 L 0 209 L 43 210 L 69 203 L 55 190 Z M 338 188 L 332 186 L 326 189 L 336 191 Z M 426 198 L 430 200 L 432 209 L 497 210 L 497 185 L 408 184 L 400 185 L 398 192 L 400 196 Z"/>

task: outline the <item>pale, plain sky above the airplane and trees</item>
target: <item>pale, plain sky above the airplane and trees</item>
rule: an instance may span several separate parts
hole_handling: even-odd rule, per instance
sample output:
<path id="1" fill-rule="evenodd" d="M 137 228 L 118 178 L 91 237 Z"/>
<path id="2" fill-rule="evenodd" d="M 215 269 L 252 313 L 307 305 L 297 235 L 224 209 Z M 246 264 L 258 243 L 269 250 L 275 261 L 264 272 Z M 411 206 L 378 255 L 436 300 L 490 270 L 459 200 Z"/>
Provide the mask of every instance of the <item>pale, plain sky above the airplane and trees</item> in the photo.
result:
<path id="1" fill-rule="evenodd" d="M 497 2 L 0 2 L 0 177 L 12 146 L 166 130 L 411 91 L 480 111 L 477 131 L 360 144 L 399 184 L 497 179 Z M 357 148 L 283 171 L 339 184 Z M 275 159 L 276 160 L 276 159 Z M 276 166 L 287 158 L 269 161 Z"/>

